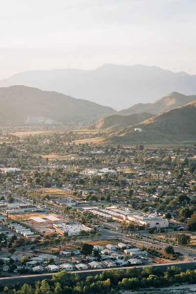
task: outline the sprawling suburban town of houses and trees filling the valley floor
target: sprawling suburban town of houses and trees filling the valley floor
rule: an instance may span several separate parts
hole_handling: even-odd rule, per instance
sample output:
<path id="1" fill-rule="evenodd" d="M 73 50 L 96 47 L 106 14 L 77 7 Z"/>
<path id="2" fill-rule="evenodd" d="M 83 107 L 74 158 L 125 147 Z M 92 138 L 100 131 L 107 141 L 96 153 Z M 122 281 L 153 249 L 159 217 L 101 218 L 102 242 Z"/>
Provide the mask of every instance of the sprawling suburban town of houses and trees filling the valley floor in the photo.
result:
<path id="1" fill-rule="evenodd" d="M 17 134 L 0 134 L 0 279 L 195 263 L 194 145 Z"/>

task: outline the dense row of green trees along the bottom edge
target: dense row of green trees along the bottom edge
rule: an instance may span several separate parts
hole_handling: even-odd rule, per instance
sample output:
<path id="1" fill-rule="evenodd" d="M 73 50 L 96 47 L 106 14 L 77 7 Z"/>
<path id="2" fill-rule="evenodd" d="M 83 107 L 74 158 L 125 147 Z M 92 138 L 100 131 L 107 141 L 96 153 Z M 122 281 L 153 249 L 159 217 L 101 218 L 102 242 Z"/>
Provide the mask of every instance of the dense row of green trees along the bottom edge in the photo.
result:
<path id="1" fill-rule="evenodd" d="M 96 276 L 81 279 L 78 274 L 61 271 L 50 280 L 35 282 L 34 286 L 24 284 L 6 286 L 0 294 L 85 294 L 117 293 L 147 287 L 163 287 L 173 283 L 196 283 L 196 270 L 182 272 L 179 267 L 168 267 L 163 273 L 155 267 L 143 269 L 102 271 Z"/>

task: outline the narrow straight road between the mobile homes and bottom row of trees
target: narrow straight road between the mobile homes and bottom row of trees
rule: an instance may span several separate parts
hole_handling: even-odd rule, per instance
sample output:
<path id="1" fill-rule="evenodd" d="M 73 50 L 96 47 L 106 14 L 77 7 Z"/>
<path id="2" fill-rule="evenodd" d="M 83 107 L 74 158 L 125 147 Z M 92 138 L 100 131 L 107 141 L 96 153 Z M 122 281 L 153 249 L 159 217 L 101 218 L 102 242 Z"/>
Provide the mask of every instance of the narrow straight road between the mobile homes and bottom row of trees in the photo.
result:
<path id="1" fill-rule="evenodd" d="M 180 264 L 183 264 L 183 263 L 187 263 L 186 261 L 185 262 L 180 262 L 179 263 L 179 261 L 178 262 L 175 262 L 175 263 L 165 263 L 165 264 L 156 264 L 156 265 L 150 265 L 151 267 L 154 267 L 154 266 L 156 266 L 156 267 L 159 267 L 159 266 L 175 266 L 175 265 L 180 265 Z M 193 262 L 189 262 L 190 264 L 195 264 L 196 265 L 196 261 L 193 261 Z M 123 267 L 123 268 L 115 268 L 115 270 L 127 270 L 127 269 L 132 269 L 132 268 L 134 268 L 135 266 L 131 266 L 131 267 Z M 137 268 L 145 268 L 145 267 L 149 267 L 149 265 L 143 265 L 143 266 L 136 266 Z M 102 271 L 105 271 L 105 270 L 111 270 L 111 269 L 99 269 L 99 270 L 74 270 L 74 271 L 72 271 L 72 273 L 78 273 L 78 272 L 89 272 L 89 273 L 91 273 L 91 272 L 94 272 L 94 271 L 96 271 L 96 272 L 98 272 L 98 271 L 100 271 L 100 272 L 102 272 Z M 4 277 L 4 278 L 0 278 L 0 280 L 3 280 L 3 279 L 14 279 L 14 278 L 30 278 L 30 277 L 36 277 L 36 276 L 52 276 L 52 275 L 54 275 L 54 274 L 56 274 L 57 272 L 50 272 L 50 273 L 43 273 L 43 274 L 28 274 L 28 275 L 16 275 L 16 276 L 12 276 L 12 277 Z M 90 274 L 89 274 L 90 275 Z"/>

